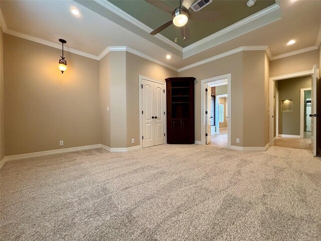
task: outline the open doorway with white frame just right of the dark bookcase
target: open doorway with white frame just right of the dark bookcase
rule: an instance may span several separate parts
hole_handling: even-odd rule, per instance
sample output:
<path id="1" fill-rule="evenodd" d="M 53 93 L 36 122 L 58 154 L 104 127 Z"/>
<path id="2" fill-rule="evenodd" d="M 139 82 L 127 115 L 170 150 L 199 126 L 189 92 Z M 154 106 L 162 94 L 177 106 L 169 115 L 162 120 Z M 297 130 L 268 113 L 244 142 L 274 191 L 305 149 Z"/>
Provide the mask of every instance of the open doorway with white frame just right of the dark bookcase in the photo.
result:
<path id="1" fill-rule="evenodd" d="M 231 74 L 201 81 L 201 143 L 231 148 Z"/>

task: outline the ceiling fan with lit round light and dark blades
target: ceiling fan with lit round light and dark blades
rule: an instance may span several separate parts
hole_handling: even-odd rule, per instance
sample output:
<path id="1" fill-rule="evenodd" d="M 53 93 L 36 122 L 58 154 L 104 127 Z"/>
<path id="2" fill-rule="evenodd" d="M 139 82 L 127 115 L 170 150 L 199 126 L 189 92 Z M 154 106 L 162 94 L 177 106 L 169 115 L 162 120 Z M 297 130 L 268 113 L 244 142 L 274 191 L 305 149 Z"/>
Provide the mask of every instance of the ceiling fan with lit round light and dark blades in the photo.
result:
<path id="1" fill-rule="evenodd" d="M 155 30 L 151 31 L 151 35 L 158 34 L 162 30 L 166 29 L 170 25 L 174 24 L 177 27 L 181 28 L 181 34 L 183 39 L 189 39 L 191 37 L 190 30 L 186 25 L 189 19 L 191 20 L 205 20 L 205 21 L 213 21 L 219 19 L 219 12 L 218 11 L 201 11 L 201 12 L 189 12 L 189 8 L 194 3 L 195 0 L 184 0 L 183 3 L 180 0 L 180 6 L 176 9 L 172 9 L 170 6 L 164 4 L 159 0 L 145 0 L 145 2 L 151 4 L 152 6 L 161 9 L 167 13 L 172 15 L 172 19 L 168 22 L 162 24 Z"/>

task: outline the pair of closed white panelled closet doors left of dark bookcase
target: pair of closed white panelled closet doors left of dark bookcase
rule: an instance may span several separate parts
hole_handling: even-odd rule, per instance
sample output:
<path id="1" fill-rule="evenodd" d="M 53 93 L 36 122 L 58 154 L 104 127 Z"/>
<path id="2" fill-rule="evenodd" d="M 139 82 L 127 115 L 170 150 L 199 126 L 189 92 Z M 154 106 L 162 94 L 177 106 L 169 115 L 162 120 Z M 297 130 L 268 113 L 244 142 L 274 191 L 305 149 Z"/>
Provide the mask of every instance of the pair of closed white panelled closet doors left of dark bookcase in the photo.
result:
<path id="1" fill-rule="evenodd" d="M 165 84 L 142 79 L 142 147 L 165 143 Z"/>

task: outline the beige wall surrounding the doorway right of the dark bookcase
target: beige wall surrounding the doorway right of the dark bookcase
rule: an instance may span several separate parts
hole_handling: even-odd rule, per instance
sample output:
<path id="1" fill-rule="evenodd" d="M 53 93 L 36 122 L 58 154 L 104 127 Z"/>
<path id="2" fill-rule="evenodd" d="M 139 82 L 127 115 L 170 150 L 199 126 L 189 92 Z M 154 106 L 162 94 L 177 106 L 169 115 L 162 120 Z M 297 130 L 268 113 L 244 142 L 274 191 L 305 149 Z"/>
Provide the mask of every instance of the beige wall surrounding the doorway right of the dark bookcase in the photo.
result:
<path id="1" fill-rule="evenodd" d="M 179 72 L 180 77 L 195 77 L 195 140 L 201 141 L 201 80 L 231 73 L 231 145 L 243 146 L 243 52 Z M 240 138 L 240 143 L 236 143 Z"/>

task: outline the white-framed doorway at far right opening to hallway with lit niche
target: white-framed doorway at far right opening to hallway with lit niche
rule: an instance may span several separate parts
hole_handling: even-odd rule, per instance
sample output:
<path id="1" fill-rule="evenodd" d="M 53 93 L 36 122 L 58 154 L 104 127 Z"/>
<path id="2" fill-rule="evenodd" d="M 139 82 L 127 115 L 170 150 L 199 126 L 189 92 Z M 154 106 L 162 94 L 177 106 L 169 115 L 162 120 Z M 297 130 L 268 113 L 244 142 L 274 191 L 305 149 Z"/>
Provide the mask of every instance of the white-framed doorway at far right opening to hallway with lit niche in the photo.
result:
<path id="1" fill-rule="evenodd" d="M 311 118 L 306 118 L 311 101 L 307 96 L 308 92 L 305 97 L 304 91 L 311 89 L 317 75 L 315 72 L 316 68 L 313 66 L 312 70 L 270 78 L 270 146 L 312 150 L 313 134 L 306 132 L 306 127 L 311 123 Z M 304 79 L 305 84 L 302 85 L 300 79 Z"/>

